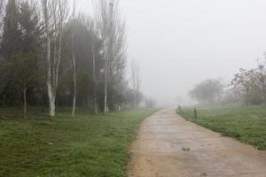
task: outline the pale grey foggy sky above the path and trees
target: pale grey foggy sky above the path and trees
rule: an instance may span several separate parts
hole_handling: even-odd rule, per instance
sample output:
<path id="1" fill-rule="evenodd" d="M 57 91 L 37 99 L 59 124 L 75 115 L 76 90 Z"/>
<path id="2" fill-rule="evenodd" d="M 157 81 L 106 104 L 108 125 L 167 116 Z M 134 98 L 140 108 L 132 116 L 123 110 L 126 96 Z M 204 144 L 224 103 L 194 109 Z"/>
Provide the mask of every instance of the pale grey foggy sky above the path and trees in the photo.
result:
<path id="1" fill-rule="evenodd" d="M 78 2 L 91 11 L 91 0 Z M 199 81 L 230 81 L 255 66 L 266 50 L 265 7 L 265 0 L 121 0 L 142 91 L 171 105 Z"/>

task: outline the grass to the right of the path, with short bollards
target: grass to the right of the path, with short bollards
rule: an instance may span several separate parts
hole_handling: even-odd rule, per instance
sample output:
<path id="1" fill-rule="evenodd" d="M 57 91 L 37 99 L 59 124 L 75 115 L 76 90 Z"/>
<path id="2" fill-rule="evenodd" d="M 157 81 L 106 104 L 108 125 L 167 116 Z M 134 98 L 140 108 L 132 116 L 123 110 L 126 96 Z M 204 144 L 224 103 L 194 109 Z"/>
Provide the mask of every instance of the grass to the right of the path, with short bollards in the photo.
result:
<path id="1" fill-rule="evenodd" d="M 178 113 L 202 127 L 266 150 L 265 106 L 201 107 L 198 108 L 198 119 L 194 119 L 192 108 Z"/>

